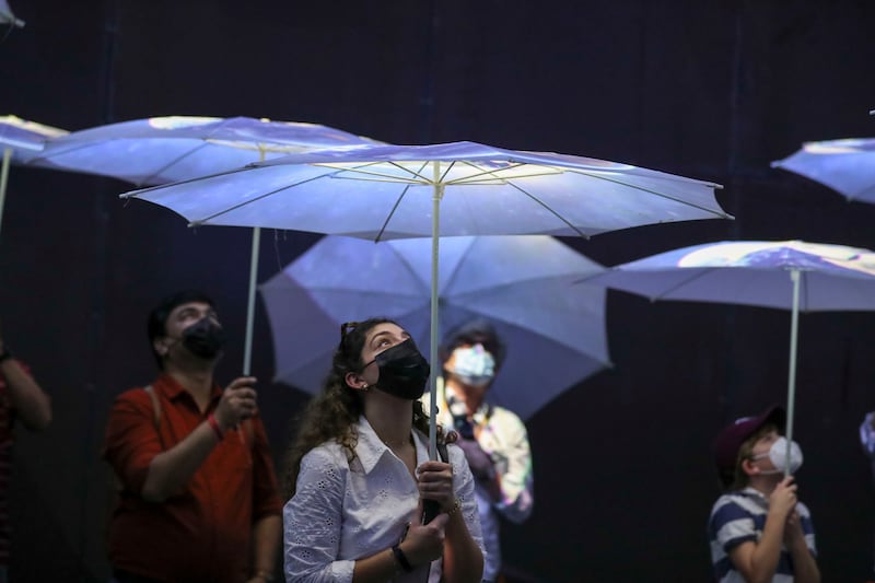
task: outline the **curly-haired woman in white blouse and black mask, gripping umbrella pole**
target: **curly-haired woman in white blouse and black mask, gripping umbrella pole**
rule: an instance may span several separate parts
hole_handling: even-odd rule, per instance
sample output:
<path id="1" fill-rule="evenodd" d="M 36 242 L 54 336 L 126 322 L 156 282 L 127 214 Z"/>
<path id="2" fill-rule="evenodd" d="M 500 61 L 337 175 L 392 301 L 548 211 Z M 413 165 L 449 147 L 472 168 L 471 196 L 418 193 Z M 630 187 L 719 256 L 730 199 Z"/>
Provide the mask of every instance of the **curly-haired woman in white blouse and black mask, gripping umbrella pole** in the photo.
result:
<path id="1" fill-rule="evenodd" d="M 341 327 L 331 371 L 287 454 L 287 582 L 481 580 L 465 455 L 450 443 L 448 460 L 429 459 L 418 400 L 428 380 L 428 362 L 394 322 Z M 425 514 L 436 516 L 423 524 L 430 504 Z"/>

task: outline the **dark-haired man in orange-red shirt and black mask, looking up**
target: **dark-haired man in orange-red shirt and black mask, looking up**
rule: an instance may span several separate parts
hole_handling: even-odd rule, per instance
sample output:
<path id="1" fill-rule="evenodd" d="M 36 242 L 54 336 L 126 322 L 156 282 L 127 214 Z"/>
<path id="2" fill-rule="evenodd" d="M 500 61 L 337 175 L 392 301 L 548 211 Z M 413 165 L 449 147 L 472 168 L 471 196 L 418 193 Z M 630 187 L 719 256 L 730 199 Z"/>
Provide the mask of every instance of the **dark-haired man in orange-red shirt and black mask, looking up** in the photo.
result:
<path id="1" fill-rule="evenodd" d="M 184 291 L 149 316 L 161 374 L 119 395 L 104 458 L 120 481 L 109 523 L 119 583 L 273 580 L 282 530 L 256 380 L 213 380 L 224 333 L 212 301 Z"/>

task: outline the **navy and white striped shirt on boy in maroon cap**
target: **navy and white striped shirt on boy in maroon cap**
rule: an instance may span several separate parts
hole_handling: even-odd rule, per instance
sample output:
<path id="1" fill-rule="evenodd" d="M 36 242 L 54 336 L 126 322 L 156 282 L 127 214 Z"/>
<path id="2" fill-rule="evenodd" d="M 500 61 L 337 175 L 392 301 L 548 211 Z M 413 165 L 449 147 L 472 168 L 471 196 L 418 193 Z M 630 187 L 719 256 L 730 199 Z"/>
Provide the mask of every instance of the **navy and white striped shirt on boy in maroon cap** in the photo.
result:
<path id="1" fill-rule="evenodd" d="M 796 512 L 802 521 L 802 532 L 812 555 L 817 555 L 814 543 L 814 526 L 808 508 L 796 503 Z M 714 580 L 720 583 L 744 583 L 742 573 L 735 570 L 728 552 L 747 540 L 758 541 L 766 526 L 769 513 L 769 500 L 754 488 L 745 488 L 727 492 L 720 497 L 711 510 L 708 521 L 708 539 L 711 543 L 711 562 L 714 568 Z M 772 583 L 792 583 L 793 562 L 786 547 L 781 546 Z"/>

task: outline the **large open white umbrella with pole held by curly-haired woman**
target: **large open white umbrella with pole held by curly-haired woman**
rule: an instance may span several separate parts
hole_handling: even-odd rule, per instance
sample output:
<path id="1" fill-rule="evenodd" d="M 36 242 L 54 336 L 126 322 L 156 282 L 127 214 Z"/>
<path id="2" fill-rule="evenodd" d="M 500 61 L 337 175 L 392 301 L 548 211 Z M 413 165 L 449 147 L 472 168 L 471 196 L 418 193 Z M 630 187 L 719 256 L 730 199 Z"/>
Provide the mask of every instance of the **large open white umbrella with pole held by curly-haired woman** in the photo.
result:
<path id="1" fill-rule="evenodd" d="M 435 362 L 442 236 L 590 236 L 731 218 L 714 198 L 719 187 L 616 162 L 452 142 L 291 154 L 121 196 L 171 208 L 191 225 L 270 226 L 374 241 L 431 236 L 430 360 Z M 435 374 L 430 390 L 434 406 Z M 435 433 L 432 423 L 432 458 Z"/>

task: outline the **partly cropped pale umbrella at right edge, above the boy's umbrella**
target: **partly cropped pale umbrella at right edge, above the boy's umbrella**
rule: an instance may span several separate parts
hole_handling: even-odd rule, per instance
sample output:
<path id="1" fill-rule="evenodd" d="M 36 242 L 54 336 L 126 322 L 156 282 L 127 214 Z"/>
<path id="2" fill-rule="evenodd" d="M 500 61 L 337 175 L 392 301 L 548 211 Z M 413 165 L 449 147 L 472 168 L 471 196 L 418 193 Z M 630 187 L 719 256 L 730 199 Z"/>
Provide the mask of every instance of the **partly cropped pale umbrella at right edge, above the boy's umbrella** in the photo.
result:
<path id="1" fill-rule="evenodd" d="M 820 183 L 848 200 L 875 203 L 875 138 L 808 142 L 772 167 Z"/>

